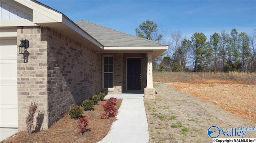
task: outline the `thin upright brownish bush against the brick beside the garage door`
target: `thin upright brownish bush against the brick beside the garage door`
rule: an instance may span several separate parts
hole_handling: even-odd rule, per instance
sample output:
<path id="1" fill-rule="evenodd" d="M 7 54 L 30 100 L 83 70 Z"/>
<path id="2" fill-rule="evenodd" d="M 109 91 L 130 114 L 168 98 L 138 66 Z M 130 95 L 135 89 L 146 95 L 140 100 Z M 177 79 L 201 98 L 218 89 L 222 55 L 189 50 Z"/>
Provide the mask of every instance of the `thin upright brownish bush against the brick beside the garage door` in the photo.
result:
<path id="1" fill-rule="evenodd" d="M 26 126 L 27 126 L 27 135 L 30 136 L 33 129 L 33 122 L 34 122 L 34 114 L 36 113 L 37 109 L 37 102 L 31 102 L 28 108 L 28 116 L 26 118 Z"/>

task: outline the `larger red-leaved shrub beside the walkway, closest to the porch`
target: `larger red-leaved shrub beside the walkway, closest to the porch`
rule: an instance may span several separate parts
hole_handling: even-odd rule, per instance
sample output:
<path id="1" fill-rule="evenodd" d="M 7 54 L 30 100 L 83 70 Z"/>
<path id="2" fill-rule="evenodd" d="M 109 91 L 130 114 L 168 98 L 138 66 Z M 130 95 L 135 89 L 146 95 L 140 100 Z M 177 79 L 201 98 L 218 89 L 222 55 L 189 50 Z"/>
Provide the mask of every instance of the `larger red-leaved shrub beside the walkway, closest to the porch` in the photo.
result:
<path id="1" fill-rule="evenodd" d="M 106 101 L 106 104 L 104 104 L 102 107 L 104 108 L 104 111 L 106 114 L 102 114 L 100 118 L 102 119 L 108 119 L 108 117 L 116 117 L 116 98 L 111 97 Z"/>

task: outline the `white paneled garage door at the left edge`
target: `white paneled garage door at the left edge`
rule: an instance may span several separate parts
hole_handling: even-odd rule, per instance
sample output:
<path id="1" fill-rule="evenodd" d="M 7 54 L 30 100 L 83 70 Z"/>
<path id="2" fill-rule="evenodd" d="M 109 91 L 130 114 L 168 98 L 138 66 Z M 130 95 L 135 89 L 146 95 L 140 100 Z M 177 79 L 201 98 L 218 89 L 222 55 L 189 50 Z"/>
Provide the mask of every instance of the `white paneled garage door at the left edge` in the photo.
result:
<path id="1" fill-rule="evenodd" d="M 0 38 L 0 127 L 18 127 L 16 38 Z"/>

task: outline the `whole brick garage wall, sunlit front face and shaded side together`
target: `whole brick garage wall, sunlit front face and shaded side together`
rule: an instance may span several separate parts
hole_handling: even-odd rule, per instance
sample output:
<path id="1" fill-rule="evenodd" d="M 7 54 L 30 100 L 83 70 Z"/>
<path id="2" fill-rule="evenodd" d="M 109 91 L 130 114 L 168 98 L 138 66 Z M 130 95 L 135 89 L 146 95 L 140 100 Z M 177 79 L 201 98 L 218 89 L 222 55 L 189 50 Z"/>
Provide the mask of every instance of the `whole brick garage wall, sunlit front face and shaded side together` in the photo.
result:
<path id="1" fill-rule="evenodd" d="M 48 129 L 68 112 L 102 90 L 102 55 L 47 27 L 18 27 L 20 39 L 29 40 L 28 63 L 18 54 L 18 130 L 26 130 L 31 101 L 38 102 Z M 17 51 L 18 53 L 18 51 Z"/>

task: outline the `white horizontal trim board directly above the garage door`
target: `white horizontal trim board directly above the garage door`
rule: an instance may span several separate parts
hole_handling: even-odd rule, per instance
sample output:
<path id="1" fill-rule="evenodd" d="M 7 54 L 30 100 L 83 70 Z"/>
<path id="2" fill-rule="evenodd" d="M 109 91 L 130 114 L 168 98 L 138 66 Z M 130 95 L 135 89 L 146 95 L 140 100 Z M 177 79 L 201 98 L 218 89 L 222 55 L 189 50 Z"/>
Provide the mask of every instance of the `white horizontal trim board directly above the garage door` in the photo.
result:
<path id="1" fill-rule="evenodd" d="M 26 19 L 0 20 L 0 27 L 13 27 L 13 26 L 38 26 L 38 25 Z"/>

